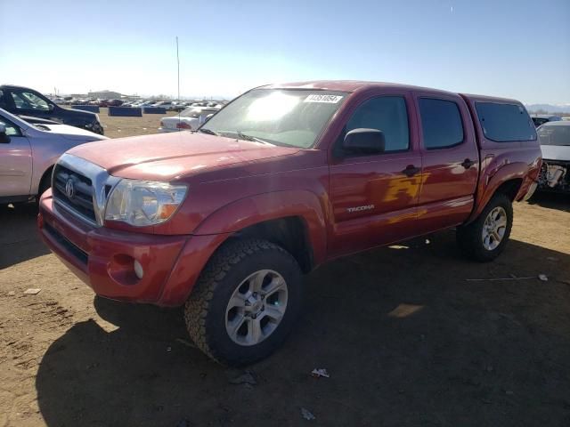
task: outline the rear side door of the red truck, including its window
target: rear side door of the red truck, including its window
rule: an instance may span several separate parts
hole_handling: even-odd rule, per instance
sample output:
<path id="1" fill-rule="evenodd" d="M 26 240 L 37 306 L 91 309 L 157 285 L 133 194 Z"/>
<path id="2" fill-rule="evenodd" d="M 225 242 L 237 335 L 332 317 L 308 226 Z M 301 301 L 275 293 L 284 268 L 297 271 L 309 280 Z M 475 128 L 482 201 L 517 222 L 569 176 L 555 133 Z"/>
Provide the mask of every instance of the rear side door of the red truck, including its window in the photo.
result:
<path id="1" fill-rule="evenodd" d="M 464 222 L 474 204 L 479 150 L 468 107 L 459 95 L 415 93 L 423 183 L 419 233 Z"/>

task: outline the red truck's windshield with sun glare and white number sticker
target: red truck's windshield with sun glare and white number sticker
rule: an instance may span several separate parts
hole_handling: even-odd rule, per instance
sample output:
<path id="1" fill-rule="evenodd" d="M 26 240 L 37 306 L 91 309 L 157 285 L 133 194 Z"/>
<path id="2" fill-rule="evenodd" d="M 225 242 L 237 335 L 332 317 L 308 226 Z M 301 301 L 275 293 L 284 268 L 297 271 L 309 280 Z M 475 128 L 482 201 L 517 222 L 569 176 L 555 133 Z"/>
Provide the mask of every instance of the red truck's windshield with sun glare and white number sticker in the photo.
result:
<path id="1" fill-rule="evenodd" d="M 256 89 L 220 110 L 202 131 L 308 149 L 345 98 L 342 92 Z"/>

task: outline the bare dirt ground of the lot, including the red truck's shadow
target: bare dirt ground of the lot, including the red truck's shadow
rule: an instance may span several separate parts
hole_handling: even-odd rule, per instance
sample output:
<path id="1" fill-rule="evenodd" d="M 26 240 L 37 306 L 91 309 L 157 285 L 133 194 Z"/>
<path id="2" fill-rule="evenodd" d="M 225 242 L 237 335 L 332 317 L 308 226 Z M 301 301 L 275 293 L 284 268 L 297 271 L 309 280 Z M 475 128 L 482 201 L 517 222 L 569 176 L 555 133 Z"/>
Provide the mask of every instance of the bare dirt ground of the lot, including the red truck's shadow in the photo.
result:
<path id="1" fill-rule="evenodd" d="M 94 297 L 35 216 L 0 208 L 0 426 L 570 425 L 568 197 L 517 204 L 496 262 L 444 231 L 322 266 L 294 333 L 242 381 L 192 346 L 182 310 Z"/>

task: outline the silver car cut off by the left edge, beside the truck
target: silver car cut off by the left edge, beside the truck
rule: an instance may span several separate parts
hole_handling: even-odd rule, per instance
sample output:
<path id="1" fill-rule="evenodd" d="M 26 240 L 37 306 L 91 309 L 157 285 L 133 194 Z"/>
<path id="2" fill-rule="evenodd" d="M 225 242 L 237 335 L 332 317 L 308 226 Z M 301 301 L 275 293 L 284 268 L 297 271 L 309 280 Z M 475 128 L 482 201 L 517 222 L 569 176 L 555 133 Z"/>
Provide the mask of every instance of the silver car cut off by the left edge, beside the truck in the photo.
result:
<path id="1" fill-rule="evenodd" d="M 41 195 L 51 185 L 52 168 L 61 154 L 85 142 L 107 139 L 59 123 L 32 125 L 0 109 L 0 203 Z"/>

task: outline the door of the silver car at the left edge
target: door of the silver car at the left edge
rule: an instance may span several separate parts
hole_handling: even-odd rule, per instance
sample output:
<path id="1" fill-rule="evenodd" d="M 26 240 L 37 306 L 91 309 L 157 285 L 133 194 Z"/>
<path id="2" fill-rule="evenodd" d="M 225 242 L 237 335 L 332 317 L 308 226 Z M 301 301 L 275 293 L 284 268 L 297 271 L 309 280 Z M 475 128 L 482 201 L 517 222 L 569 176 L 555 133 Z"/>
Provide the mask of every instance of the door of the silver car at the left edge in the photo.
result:
<path id="1" fill-rule="evenodd" d="M 0 142 L 0 200 L 28 196 L 32 176 L 32 151 L 20 127 L 0 116 L 9 142 Z"/>

